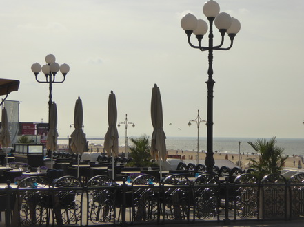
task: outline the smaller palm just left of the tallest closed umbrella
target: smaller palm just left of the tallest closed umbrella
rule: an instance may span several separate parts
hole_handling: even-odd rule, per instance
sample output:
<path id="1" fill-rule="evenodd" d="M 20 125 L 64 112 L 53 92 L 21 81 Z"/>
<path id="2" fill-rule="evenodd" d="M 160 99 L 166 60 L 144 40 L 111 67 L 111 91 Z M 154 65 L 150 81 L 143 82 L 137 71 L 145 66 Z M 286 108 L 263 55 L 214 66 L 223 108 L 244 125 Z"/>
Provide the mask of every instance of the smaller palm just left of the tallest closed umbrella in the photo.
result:
<path id="1" fill-rule="evenodd" d="M 130 146 L 133 161 L 129 164 L 135 166 L 152 166 L 150 155 L 150 139 L 149 136 L 143 135 L 139 138 L 130 138 L 133 146 Z"/>

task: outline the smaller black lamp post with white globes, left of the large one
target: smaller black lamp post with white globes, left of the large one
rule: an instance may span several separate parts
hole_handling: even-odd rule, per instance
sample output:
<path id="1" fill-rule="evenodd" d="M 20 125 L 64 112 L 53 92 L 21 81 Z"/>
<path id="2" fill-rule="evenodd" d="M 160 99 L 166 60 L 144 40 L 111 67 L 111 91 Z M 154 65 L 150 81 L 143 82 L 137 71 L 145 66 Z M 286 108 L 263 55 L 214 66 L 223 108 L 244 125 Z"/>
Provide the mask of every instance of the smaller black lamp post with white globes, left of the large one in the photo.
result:
<path id="1" fill-rule="evenodd" d="M 52 84 L 53 83 L 63 83 L 65 80 L 66 74 L 70 71 L 70 67 L 68 64 L 63 63 L 59 66 L 59 64 L 56 61 L 56 58 L 52 54 L 48 54 L 45 56 L 45 62 L 46 64 L 41 67 L 39 63 L 32 64 L 32 72 L 35 75 L 36 81 L 38 83 L 48 83 L 49 85 L 49 95 L 48 95 L 48 122 L 50 124 L 50 107 L 52 105 Z M 45 75 L 45 80 L 38 80 L 37 76 L 39 72 L 41 71 Z M 61 81 L 56 81 L 55 76 L 57 72 L 60 70 L 61 74 L 63 75 L 63 78 Z M 50 126 L 49 126 L 50 127 Z"/>

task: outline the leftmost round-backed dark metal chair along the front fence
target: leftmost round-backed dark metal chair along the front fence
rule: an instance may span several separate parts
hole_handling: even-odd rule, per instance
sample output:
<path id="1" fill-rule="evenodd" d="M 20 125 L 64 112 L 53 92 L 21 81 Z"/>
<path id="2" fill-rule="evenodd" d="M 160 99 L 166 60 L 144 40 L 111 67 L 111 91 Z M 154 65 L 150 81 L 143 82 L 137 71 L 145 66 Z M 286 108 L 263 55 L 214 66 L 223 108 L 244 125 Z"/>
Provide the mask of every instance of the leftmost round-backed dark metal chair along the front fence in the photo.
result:
<path id="1" fill-rule="evenodd" d="M 37 176 L 26 177 L 18 182 L 18 188 L 35 188 L 34 191 L 19 190 L 17 193 L 19 224 L 21 226 L 48 225 L 52 208 L 48 180 Z"/>

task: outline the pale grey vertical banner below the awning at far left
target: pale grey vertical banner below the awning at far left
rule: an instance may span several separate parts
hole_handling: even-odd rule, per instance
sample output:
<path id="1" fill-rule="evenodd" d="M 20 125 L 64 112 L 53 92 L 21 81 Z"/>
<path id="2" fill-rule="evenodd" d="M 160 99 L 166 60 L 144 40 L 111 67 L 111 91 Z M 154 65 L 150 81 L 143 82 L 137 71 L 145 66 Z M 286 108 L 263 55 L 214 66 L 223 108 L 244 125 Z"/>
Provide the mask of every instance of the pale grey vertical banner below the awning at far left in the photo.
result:
<path id="1" fill-rule="evenodd" d="M 5 100 L 3 107 L 8 112 L 8 131 L 10 131 L 10 140 L 12 144 L 17 142 L 19 125 L 19 101 Z"/>

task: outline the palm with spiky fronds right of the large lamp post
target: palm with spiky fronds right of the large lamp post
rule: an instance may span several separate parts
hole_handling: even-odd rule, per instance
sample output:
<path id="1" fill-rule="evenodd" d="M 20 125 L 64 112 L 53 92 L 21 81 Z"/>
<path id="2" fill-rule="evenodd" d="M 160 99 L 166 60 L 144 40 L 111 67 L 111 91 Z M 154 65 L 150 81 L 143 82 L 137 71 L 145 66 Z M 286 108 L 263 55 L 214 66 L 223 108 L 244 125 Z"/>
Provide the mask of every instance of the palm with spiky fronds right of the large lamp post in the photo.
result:
<path id="1" fill-rule="evenodd" d="M 247 158 L 252 162 L 252 168 L 256 169 L 254 175 L 262 179 L 267 174 L 280 173 L 287 157 L 283 157 L 284 149 L 275 145 L 275 136 L 269 141 L 260 138 L 256 142 L 248 142 L 248 144 L 259 153 L 257 159 Z"/>

